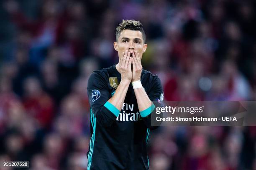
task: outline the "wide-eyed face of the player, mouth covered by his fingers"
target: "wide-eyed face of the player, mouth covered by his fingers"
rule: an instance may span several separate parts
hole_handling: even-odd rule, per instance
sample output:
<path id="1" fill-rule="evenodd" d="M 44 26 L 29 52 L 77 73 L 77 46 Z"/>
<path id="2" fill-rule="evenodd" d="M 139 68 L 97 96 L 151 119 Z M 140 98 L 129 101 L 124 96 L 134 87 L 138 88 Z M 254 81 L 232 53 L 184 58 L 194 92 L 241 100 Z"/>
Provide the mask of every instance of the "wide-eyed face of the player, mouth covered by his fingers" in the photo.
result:
<path id="1" fill-rule="evenodd" d="M 147 44 L 143 42 L 142 32 L 135 30 L 123 30 L 118 37 L 118 42 L 114 42 L 114 48 L 118 51 L 118 57 L 123 57 L 125 50 L 130 51 L 131 57 L 134 51 L 139 53 L 142 58 L 142 53 L 146 51 Z"/>

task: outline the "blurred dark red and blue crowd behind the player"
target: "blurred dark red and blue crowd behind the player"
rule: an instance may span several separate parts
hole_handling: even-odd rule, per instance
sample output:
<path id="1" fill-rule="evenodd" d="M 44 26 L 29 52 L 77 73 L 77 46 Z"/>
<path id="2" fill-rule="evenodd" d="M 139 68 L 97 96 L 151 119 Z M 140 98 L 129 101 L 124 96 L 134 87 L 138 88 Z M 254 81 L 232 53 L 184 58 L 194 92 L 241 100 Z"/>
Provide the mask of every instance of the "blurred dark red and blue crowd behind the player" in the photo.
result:
<path id="1" fill-rule="evenodd" d="M 254 0 L 3 0 L 0 161 L 86 170 L 87 79 L 118 62 L 115 27 L 143 23 L 165 100 L 256 100 Z M 161 127 L 151 170 L 256 169 L 255 127 Z M 7 168 L 8 169 L 8 168 Z"/>

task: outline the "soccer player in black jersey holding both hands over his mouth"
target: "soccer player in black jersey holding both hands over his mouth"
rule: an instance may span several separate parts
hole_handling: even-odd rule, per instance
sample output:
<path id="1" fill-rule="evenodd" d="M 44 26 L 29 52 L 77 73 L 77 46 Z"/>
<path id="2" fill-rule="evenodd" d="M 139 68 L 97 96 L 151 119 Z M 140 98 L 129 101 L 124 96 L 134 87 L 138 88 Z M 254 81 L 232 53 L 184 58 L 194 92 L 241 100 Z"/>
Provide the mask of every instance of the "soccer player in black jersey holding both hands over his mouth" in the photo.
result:
<path id="1" fill-rule="evenodd" d="M 147 142 L 152 101 L 163 100 L 157 75 L 143 70 L 146 51 L 142 24 L 123 20 L 116 28 L 114 48 L 119 62 L 92 73 L 88 80 L 91 140 L 88 170 L 148 170 Z"/>

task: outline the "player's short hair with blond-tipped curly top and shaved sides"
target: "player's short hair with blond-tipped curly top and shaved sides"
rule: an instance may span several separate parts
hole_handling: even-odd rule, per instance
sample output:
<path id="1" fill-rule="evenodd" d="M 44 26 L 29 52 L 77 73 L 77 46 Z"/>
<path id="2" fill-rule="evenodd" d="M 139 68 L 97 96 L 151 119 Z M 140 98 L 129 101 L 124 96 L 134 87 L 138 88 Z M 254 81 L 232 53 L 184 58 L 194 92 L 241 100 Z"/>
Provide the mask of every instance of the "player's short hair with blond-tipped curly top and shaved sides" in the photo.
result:
<path id="1" fill-rule="evenodd" d="M 115 28 L 115 39 L 118 41 L 118 37 L 120 36 L 123 30 L 138 30 L 142 33 L 142 38 L 144 43 L 146 42 L 146 34 L 142 28 L 142 23 L 136 20 L 123 20 L 122 23 Z"/>

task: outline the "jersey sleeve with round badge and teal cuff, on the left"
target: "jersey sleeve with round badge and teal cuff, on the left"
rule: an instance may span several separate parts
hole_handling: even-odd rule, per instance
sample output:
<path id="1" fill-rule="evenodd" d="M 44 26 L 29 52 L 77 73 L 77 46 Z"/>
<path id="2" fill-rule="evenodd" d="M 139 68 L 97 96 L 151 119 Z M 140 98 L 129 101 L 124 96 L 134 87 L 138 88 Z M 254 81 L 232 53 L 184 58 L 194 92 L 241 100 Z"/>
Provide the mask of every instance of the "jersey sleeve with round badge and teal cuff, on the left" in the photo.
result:
<path id="1" fill-rule="evenodd" d="M 108 100 L 111 98 L 108 90 L 108 80 L 102 72 L 93 72 L 88 80 L 87 93 L 92 113 L 97 122 L 104 127 L 111 126 L 119 114 Z"/>

